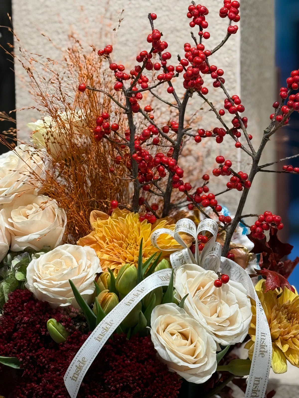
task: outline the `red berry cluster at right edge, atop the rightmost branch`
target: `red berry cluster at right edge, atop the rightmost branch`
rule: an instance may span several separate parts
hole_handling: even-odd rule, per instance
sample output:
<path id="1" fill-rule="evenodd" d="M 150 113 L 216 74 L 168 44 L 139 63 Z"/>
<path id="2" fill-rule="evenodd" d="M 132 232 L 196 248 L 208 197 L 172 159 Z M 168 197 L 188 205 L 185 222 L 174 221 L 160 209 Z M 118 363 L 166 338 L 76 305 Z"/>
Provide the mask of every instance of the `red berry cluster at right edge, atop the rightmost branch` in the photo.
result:
<path id="1" fill-rule="evenodd" d="M 291 72 L 291 76 L 287 78 L 287 87 L 280 88 L 280 97 L 283 100 L 286 100 L 289 96 L 288 90 L 298 90 L 299 88 L 299 70 L 293 70 Z M 280 106 L 278 101 L 273 103 L 273 108 L 277 109 Z M 291 94 L 289 96 L 289 100 L 287 101 L 287 105 L 283 105 L 279 111 L 272 113 L 270 115 L 270 119 L 272 120 L 275 117 L 275 120 L 280 123 L 283 118 L 289 113 L 289 111 L 299 111 L 299 93 Z M 281 113 L 280 113 L 281 111 Z M 284 124 L 287 125 L 289 123 L 289 117 L 285 120 Z"/>

